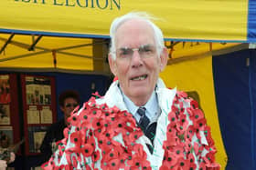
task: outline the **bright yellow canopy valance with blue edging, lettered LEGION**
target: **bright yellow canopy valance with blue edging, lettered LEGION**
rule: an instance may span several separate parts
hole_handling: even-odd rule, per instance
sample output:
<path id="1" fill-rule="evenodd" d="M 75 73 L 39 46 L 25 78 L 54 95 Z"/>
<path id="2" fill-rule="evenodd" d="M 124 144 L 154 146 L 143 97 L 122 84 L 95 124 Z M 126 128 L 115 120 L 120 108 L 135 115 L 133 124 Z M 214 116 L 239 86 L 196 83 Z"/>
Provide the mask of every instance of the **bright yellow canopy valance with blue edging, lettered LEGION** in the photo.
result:
<path id="1" fill-rule="evenodd" d="M 116 16 L 146 11 L 166 40 L 255 42 L 253 0 L 3 0 L 0 32 L 109 37 Z"/>

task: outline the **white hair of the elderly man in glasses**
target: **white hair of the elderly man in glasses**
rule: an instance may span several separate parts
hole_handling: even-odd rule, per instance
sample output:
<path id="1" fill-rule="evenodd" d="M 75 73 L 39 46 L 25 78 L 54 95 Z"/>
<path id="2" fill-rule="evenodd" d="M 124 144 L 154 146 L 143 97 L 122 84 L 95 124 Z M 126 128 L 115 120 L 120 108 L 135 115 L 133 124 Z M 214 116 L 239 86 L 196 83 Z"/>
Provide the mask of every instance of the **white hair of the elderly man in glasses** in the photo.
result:
<path id="1" fill-rule="evenodd" d="M 131 19 L 141 19 L 144 20 L 146 23 L 152 26 L 155 36 L 155 45 L 157 46 L 157 55 L 160 57 L 160 54 L 162 53 L 163 48 L 165 47 L 164 44 L 164 35 L 161 31 L 161 29 L 155 25 L 152 20 L 156 20 L 152 15 L 149 15 L 145 12 L 131 12 L 126 15 L 122 15 L 120 17 L 115 18 L 112 21 L 112 25 L 110 28 L 110 36 L 111 36 L 111 47 L 110 47 L 110 53 L 112 54 L 112 59 L 115 60 L 115 34 L 119 26 L 123 25 L 126 21 L 129 21 Z"/>

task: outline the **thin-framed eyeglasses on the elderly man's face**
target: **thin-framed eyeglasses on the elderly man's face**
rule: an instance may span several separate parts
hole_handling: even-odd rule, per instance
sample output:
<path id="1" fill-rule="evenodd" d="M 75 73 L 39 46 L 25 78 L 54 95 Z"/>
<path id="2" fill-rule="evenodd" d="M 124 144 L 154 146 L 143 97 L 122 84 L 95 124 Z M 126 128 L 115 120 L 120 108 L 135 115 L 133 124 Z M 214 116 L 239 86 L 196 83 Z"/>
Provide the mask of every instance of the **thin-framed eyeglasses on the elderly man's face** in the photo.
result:
<path id="1" fill-rule="evenodd" d="M 138 51 L 141 58 L 149 58 L 155 55 L 155 45 L 141 45 L 138 48 L 121 47 L 117 49 L 116 55 L 118 58 L 123 60 L 131 60 L 134 51 Z"/>

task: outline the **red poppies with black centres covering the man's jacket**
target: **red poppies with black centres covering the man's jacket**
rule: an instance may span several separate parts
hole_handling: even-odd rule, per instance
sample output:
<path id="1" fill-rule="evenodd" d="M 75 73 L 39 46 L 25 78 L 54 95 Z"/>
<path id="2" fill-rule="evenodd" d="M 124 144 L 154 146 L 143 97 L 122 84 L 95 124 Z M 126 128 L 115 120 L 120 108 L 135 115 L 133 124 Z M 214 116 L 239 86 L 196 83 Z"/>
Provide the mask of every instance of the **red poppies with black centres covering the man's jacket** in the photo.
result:
<path id="1" fill-rule="evenodd" d="M 210 128 L 195 100 L 176 92 L 168 121 L 160 170 L 220 169 Z M 127 111 L 98 105 L 91 97 L 79 113 L 71 114 L 67 128 L 58 150 L 41 166 L 43 169 L 154 169 L 143 145 L 136 143 L 143 131 Z M 201 142 L 202 132 L 207 144 Z M 116 136 L 122 136 L 122 141 Z"/>

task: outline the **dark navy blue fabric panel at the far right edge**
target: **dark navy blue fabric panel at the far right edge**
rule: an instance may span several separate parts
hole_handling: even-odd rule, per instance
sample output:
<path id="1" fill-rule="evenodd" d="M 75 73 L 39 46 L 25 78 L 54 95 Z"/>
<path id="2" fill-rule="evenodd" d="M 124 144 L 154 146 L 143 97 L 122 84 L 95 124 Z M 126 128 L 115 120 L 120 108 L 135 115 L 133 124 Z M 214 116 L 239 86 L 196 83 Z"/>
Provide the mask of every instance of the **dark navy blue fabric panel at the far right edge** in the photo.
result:
<path id="1" fill-rule="evenodd" d="M 256 60 L 255 49 L 212 58 L 219 125 L 227 170 L 256 169 Z"/>

